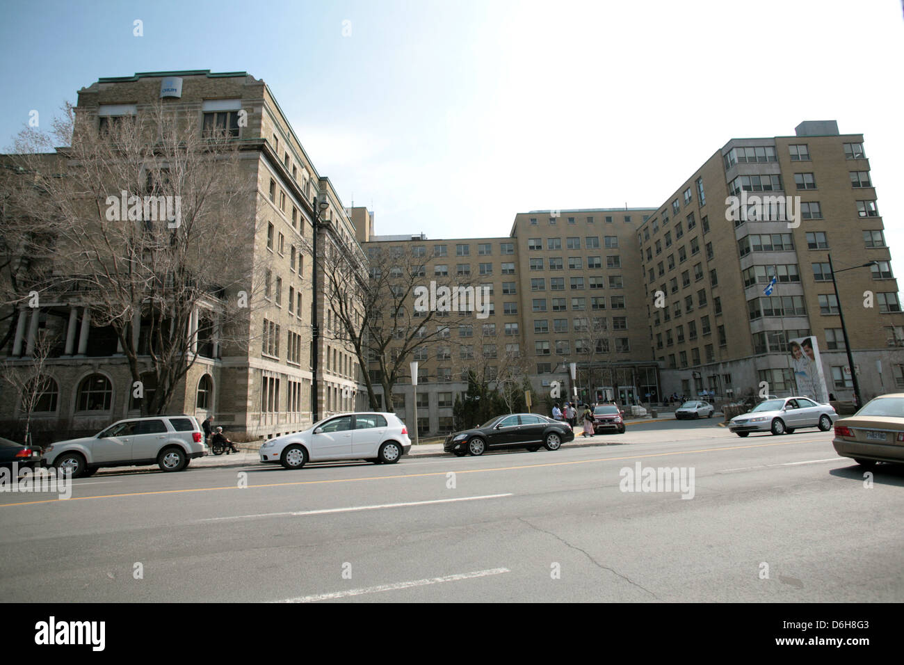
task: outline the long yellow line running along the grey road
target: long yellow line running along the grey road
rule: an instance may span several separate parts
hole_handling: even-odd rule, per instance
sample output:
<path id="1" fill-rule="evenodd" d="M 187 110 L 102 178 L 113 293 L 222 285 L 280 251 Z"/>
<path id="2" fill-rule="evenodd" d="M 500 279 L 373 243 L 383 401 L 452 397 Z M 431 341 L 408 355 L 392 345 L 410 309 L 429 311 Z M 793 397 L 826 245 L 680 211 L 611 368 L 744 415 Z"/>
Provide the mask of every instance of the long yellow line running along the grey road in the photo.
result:
<path id="1" fill-rule="evenodd" d="M 726 448 L 701 448 L 694 451 L 673 451 L 673 452 L 652 452 L 646 455 L 626 455 L 624 457 L 599 457 L 593 460 L 574 460 L 574 461 L 550 461 L 539 464 L 519 464 L 511 467 L 494 467 L 492 469 L 466 469 L 457 470 L 456 473 L 488 473 L 490 471 L 511 471 L 519 469 L 538 469 L 541 467 L 558 467 L 568 466 L 570 464 L 590 464 L 597 461 L 624 461 L 624 460 L 640 460 L 648 457 L 670 457 L 673 455 L 690 455 L 694 452 L 718 452 L 718 451 L 741 451 L 749 448 L 768 448 L 771 446 L 789 446 L 796 443 L 809 443 L 805 441 L 789 441 L 776 443 L 756 443 L 746 446 L 729 446 Z M 445 476 L 448 471 L 431 471 L 429 473 L 406 473 L 398 476 L 364 476 L 363 478 L 337 478 L 334 480 L 299 480 L 297 482 L 272 482 L 264 485 L 249 485 L 246 489 L 259 489 L 269 487 L 289 487 L 294 485 L 325 485 L 329 483 L 340 482 L 361 482 L 363 480 L 395 480 L 400 478 L 424 478 L 427 476 Z M 184 492 L 211 492 L 221 489 L 241 489 L 238 485 L 228 487 L 209 487 L 209 488 L 193 488 L 193 489 L 157 489 L 149 492 L 129 492 L 127 494 L 103 494 L 96 497 L 71 497 L 70 499 L 42 499 L 39 501 L 23 501 L 21 503 L 5 503 L 0 504 L 0 508 L 9 506 L 33 506 L 38 503 L 60 503 L 70 501 L 82 501 L 85 499 L 118 499 L 121 497 L 146 497 L 154 494 L 180 494 Z"/>

